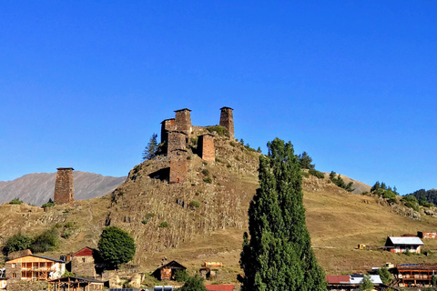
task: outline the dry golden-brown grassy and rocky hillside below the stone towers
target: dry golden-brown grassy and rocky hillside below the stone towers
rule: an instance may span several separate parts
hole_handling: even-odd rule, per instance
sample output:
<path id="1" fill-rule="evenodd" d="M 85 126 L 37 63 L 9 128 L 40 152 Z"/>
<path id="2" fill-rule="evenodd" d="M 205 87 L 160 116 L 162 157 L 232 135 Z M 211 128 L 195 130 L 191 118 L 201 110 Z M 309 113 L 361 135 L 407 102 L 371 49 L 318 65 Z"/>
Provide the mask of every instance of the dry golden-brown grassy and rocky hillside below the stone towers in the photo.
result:
<path id="1" fill-rule="evenodd" d="M 196 134 L 204 129 L 197 127 Z M 135 166 L 127 181 L 113 193 L 43 212 L 30 206 L 0 206 L 0 236 L 21 230 L 29 236 L 57 227 L 58 250 L 48 256 L 74 253 L 83 246 L 96 247 L 105 226 L 119 226 L 137 243 L 132 264 L 151 272 L 164 257 L 198 270 L 205 261 L 223 262 L 217 282 L 235 282 L 239 269 L 242 234 L 247 229 L 249 201 L 258 187 L 259 154 L 224 136 L 215 138 L 217 161 L 205 163 L 190 149 L 188 183 L 168 185 L 153 173 L 168 166 L 158 156 Z M 205 182 L 209 177 L 212 183 Z M 358 244 L 383 245 L 387 235 L 435 230 L 437 218 L 412 220 L 392 212 L 372 196 L 348 193 L 314 176 L 304 178 L 307 225 L 316 255 L 328 274 L 363 271 L 386 262 L 433 262 L 434 256 L 398 255 L 355 249 Z M 192 203 L 197 201 L 199 206 Z M 168 227 L 159 227 L 168 222 Z M 73 226 L 73 227 L 67 227 Z M 425 241 L 425 248 L 437 244 Z"/>

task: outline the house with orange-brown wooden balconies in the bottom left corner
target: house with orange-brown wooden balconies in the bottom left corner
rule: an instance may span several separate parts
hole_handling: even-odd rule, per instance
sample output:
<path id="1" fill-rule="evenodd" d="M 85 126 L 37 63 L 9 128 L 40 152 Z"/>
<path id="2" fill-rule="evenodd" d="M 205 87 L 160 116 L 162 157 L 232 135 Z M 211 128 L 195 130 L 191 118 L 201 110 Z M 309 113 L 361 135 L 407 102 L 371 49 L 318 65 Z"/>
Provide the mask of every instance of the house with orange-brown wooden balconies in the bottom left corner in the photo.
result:
<path id="1" fill-rule="evenodd" d="M 56 279 L 66 272 L 66 263 L 49 256 L 26 255 L 5 264 L 5 276 L 11 281 Z"/>

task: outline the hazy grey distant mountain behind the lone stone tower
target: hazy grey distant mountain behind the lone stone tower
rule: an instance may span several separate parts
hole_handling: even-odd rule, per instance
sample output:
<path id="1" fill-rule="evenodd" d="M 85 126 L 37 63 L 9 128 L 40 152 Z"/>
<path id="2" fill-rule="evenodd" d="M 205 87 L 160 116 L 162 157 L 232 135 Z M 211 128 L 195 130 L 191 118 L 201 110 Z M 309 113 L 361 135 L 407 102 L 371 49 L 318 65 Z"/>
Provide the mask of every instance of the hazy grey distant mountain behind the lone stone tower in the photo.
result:
<path id="1" fill-rule="evenodd" d="M 75 171 L 75 198 L 86 200 L 105 196 L 120 186 L 126 176 L 102 176 Z M 25 203 L 42 206 L 55 191 L 56 173 L 28 174 L 13 181 L 0 181 L 0 204 L 19 198 Z"/>

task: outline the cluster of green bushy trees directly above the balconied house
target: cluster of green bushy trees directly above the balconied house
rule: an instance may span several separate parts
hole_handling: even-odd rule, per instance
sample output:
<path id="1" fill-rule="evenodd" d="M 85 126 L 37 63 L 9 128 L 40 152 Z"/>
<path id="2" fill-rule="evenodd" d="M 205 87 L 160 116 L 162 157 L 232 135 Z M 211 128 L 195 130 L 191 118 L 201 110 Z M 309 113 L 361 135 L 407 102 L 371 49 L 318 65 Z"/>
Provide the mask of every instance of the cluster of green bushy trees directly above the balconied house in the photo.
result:
<path id="1" fill-rule="evenodd" d="M 32 253 L 38 254 L 55 250 L 58 244 L 57 230 L 54 227 L 33 238 L 22 233 L 10 236 L 6 239 L 2 252 L 7 256 L 12 252 L 30 249 Z"/>

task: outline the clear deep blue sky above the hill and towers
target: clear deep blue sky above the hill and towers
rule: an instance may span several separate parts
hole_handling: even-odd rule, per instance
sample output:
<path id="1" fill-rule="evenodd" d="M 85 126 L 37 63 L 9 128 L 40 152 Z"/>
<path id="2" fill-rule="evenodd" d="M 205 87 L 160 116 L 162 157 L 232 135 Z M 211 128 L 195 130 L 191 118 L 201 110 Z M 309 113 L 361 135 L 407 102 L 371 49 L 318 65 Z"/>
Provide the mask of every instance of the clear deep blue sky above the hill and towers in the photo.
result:
<path id="1" fill-rule="evenodd" d="M 234 108 L 320 171 L 437 188 L 436 1 L 2 1 L 0 180 L 125 176 L 159 123 Z"/>

